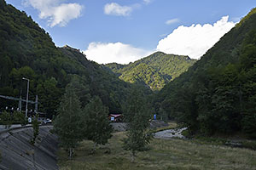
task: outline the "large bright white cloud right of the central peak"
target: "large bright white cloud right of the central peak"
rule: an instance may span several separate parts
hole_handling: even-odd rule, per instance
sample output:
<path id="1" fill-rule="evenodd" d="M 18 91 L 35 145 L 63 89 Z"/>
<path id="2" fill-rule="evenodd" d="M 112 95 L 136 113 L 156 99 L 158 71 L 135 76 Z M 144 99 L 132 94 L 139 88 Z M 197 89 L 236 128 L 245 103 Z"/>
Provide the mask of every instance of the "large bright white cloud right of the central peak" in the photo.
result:
<path id="1" fill-rule="evenodd" d="M 220 37 L 223 37 L 236 25 L 236 23 L 228 20 L 229 16 L 224 16 L 213 25 L 179 26 L 167 37 L 160 40 L 157 50 L 166 54 L 183 54 L 189 55 L 192 59 L 199 59 L 218 42 Z"/>

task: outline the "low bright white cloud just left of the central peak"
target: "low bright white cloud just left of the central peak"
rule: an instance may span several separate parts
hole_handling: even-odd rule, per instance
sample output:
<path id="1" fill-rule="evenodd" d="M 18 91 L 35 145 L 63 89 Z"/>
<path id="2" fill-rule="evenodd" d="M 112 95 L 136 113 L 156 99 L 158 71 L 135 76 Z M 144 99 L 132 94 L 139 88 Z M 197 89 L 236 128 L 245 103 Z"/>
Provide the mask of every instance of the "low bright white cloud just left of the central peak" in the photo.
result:
<path id="1" fill-rule="evenodd" d="M 153 51 L 135 48 L 122 42 L 91 42 L 88 48 L 83 52 L 86 54 L 87 59 L 94 60 L 100 64 L 112 62 L 128 64 L 153 53 Z"/>

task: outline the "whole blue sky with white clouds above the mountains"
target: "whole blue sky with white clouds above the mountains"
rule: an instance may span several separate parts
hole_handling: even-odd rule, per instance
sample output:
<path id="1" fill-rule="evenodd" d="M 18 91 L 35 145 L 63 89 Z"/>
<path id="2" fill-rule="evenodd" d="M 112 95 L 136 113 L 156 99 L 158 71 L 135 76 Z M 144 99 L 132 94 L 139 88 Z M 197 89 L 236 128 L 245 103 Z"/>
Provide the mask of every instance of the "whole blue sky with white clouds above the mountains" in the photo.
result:
<path id="1" fill-rule="evenodd" d="M 6 0 L 99 64 L 128 64 L 156 51 L 200 59 L 256 0 Z"/>

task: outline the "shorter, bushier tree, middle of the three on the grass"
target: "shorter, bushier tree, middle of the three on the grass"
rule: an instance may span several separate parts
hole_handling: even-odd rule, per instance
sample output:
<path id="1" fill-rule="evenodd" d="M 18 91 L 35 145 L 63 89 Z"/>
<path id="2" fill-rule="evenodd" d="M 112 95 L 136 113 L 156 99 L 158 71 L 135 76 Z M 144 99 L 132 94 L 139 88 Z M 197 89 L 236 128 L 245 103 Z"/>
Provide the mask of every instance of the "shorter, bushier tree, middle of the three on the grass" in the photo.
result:
<path id="1" fill-rule="evenodd" d="M 96 144 L 108 144 L 108 139 L 112 137 L 113 127 L 108 120 L 108 107 L 102 104 L 102 100 L 95 96 L 84 108 L 84 122 L 86 124 L 85 135 L 87 139 Z"/>

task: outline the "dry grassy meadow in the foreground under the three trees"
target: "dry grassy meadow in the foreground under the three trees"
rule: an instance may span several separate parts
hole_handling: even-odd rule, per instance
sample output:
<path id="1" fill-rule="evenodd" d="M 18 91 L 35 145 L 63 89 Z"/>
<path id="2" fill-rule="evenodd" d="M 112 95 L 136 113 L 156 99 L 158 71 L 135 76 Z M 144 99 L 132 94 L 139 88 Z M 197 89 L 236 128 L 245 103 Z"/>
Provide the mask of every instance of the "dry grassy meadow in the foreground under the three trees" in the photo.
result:
<path id="1" fill-rule="evenodd" d="M 92 142 L 79 144 L 75 158 L 67 159 L 64 150 L 59 151 L 61 170 L 90 169 L 256 169 L 256 151 L 231 148 L 216 144 L 199 144 L 196 140 L 153 139 L 151 150 L 137 153 L 131 162 L 131 153 L 122 149 L 121 139 L 125 133 L 113 133 L 108 148 L 98 148 L 90 155 Z"/>

